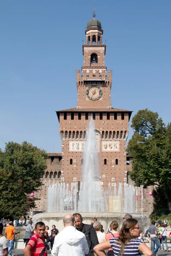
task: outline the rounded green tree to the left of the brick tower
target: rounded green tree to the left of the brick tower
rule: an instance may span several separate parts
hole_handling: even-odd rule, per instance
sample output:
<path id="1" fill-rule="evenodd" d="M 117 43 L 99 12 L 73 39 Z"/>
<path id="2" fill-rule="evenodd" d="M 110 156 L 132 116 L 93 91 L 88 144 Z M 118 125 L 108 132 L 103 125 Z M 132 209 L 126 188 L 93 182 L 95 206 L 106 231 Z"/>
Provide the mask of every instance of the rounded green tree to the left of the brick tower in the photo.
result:
<path id="1" fill-rule="evenodd" d="M 6 143 L 0 150 L 0 215 L 19 217 L 35 207 L 39 198 L 31 198 L 42 185 L 46 169 L 46 151 L 24 141 Z"/>

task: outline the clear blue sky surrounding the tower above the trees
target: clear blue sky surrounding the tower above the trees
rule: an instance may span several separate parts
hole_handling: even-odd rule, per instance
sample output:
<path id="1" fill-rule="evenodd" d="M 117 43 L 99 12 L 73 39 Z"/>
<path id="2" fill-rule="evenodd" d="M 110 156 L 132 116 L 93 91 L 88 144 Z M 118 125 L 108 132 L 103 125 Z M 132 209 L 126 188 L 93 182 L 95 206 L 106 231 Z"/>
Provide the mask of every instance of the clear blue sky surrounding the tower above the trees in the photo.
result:
<path id="1" fill-rule="evenodd" d="M 112 106 L 171 122 L 171 1 L 95 0 L 113 70 Z M 93 0 L 0 1 L 0 148 L 61 152 L 55 111 L 75 108 Z M 130 136 L 133 131 L 130 129 Z"/>

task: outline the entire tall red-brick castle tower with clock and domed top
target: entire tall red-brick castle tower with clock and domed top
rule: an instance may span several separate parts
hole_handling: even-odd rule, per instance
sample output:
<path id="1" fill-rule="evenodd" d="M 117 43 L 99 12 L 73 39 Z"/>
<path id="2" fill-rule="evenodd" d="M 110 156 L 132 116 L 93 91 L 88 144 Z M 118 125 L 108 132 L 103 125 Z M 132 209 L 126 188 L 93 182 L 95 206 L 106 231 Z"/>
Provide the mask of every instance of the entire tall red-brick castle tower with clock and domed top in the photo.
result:
<path id="1" fill-rule="evenodd" d="M 106 45 L 102 42 L 101 22 L 95 17 L 87 23 L 84 62 L 76 70 L 77 106 L 56 111 L 62 140 L 60 182 L 82 180 L 83 151 L 91 116 L 96 127 L 100 159 L 101 186 L 127 182 L 126 140 L 132 111 L 112 108 L 110 91 L 112 70 L 105 66 Z"/>

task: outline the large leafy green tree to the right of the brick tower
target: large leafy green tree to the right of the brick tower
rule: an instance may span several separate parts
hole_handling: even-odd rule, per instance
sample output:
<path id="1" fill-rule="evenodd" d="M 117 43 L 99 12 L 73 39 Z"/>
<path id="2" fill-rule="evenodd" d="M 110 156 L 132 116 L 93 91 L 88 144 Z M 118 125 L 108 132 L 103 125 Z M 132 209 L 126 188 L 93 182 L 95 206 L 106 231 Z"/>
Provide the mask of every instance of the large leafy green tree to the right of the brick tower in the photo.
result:
<path id="1" fill-rule="evenodd" d="M 170 204 L 171 123 L 165 126 L 158 113 L 146 108 L 133 117 L 131 127 L 134 134 L 127 148 L 133 156 L 131 179 L 136 186 L 156 186 Z"/>

